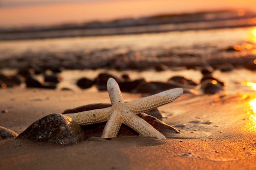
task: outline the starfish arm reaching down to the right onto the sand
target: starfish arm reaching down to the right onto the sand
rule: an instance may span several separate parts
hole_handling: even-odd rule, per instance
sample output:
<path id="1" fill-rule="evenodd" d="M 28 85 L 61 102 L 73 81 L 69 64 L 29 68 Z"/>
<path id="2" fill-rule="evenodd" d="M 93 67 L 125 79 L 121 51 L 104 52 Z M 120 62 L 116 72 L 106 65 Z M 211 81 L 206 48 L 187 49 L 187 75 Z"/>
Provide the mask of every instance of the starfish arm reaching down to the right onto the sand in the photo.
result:
<path id="1" fill-rule="evenodd" d="M 157 137 L 158 139 L 166 139 L 163 134 L 156 130 L 145 120 L 139 118 L 132 112 L 122 114 L 123 123 L 138 132 L 141 136 Z"/>

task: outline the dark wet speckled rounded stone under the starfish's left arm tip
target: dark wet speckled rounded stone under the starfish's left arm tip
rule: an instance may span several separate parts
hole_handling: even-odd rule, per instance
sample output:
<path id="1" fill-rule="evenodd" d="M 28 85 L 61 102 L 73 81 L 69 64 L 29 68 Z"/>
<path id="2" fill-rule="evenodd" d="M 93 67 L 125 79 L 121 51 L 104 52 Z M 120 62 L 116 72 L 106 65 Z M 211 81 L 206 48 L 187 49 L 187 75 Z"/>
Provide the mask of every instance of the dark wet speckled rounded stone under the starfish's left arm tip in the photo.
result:
<path id="1" fill-rule="evenodd" d="M 54 113 L 31 124 L 17 139 L 73 145 L 85 139 L 85 134 L 73 119 Z"/>

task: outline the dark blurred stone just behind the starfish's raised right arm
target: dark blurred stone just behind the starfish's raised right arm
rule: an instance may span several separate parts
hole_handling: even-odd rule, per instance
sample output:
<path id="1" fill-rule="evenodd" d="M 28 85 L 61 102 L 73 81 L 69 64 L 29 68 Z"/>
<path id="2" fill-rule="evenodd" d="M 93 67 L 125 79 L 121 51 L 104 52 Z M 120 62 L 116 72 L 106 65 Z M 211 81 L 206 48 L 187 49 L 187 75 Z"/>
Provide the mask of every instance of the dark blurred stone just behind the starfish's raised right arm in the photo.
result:
<path id="1" fill-rule="evenodd" d="M 169 90 L 172 88 L 181 87 L 180 85 L 175 85 L 171 83 L 163 83 L 163 82 L 145 82 L 138 85 L 135 89 L 136 93 L 148 93 L 148 94 L 157 94 L 164 90 Z"/>

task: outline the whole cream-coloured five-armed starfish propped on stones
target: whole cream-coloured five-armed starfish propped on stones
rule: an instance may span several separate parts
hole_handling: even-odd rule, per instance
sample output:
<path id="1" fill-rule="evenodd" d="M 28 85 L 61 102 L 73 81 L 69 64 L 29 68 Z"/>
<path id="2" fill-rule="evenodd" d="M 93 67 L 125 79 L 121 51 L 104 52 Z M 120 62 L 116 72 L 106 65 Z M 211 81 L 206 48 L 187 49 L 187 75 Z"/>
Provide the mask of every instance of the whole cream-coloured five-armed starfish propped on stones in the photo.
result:
<path id="1" fill-rule="evenodd" d="M 72 117 L 80 125 L 107 121 L 101 138 L 116 137 L 123 123 L 134 129 L 141 136 L 166 139 L 165 136 L 148 122 L 139 118 L 137 114 L 176 100 L 183 93 L 182 88 L 166 90 L 133 102 L 123 102 L 118 83 L 113 78 L 108 79 L 107 90 L 112 104 L 111 107 L 67 114 L 67 116 Z"/>

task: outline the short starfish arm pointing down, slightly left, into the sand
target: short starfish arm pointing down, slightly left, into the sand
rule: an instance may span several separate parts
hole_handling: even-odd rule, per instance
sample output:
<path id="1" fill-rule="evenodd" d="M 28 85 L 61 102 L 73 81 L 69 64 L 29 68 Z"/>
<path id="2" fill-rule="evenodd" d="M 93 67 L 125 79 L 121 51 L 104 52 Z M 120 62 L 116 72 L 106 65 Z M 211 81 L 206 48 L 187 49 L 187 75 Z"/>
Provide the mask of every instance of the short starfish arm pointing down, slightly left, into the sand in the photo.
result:
<path id="1" fill-rule="evenodd" d="M 114 111 L 109 117 L 107 124 L 105 125 L 101 138 L 117 137 L 121 124 L 122 119 L 120 113 Z"/>

